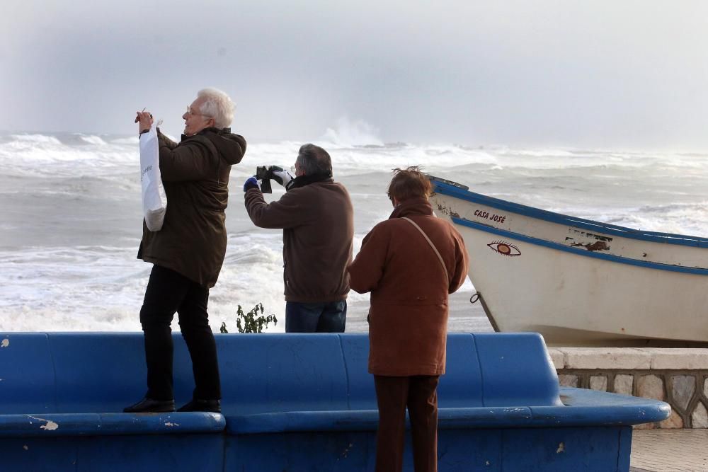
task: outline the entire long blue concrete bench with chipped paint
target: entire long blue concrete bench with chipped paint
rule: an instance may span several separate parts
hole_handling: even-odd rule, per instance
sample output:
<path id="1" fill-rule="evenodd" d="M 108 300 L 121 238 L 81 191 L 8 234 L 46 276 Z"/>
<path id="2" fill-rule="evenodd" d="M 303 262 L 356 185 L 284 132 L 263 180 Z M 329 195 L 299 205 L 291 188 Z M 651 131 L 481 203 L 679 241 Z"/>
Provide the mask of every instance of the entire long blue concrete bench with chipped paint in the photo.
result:
<path id="1" fill-rule="evenodd" d="M 119 412 L 144 393 L 142 334 L 0 335 L 1 460 L 23 470 L 373 470 L 366 335 L 216 338 L 222 415 L 130 415 Z M 191 365 L 174 340 L 185 403 Z M 628 471 L 631 425 L 670 413 L 559 388 L 533 333 L 449 335 L 438 398 L 440 471 Z"/>

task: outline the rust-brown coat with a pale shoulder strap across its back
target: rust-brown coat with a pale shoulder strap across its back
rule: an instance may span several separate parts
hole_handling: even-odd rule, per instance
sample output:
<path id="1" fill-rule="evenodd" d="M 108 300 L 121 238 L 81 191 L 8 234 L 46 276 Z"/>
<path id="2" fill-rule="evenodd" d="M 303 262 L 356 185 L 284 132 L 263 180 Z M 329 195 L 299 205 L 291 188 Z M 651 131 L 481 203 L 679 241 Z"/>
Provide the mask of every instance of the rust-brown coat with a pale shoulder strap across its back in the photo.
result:
<path id="1" fill-rule="evenodd" d="M 423 229 L 445 261 L 449 284 Z M 406 200 L 374 226 L 349 267 L 355 292 L 371 292 L 369 372 L 385 376 L 445 373 L 447 295 L 467 277 L 467 250 L 452 224 L 425 199 Z"/>

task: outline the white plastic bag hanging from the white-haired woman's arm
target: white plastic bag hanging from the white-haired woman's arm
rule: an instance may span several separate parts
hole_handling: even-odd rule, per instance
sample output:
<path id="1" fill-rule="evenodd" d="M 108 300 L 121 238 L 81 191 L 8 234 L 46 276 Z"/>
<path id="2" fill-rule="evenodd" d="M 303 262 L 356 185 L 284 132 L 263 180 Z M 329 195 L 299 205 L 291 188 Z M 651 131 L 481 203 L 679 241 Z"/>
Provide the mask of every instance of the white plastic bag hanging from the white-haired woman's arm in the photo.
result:
<path id="1" fill-rule="evenodd" d="M 160 175 L 157 129 L 140 135 L 140 183 L 142 183 L 142 213 L 150 231 L 160 231 L 167 211 L 167 195 Z"/>

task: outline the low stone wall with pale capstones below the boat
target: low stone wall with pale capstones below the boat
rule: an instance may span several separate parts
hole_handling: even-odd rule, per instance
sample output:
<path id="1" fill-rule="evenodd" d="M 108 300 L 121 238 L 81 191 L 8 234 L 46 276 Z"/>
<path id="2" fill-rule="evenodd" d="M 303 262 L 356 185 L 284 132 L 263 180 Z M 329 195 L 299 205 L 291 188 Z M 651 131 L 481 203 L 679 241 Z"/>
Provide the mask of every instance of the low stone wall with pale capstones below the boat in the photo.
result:
<path id="1" fill-rule="evenodd" d="M 662 422 L 636 428 L 708 428 L 708 349 L 549 347 L 561 386 L 655 398 Z"/>

